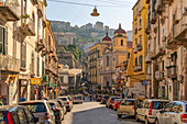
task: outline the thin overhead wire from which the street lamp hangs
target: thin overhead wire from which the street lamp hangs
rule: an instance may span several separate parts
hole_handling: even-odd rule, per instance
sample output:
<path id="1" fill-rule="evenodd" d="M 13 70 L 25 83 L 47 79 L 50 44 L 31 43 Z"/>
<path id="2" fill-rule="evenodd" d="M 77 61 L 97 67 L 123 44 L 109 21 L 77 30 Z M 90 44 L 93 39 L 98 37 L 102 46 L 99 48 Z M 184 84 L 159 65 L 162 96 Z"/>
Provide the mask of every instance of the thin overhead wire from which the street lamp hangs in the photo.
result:
<path id="1" fill-rule="evenodd" d="M 58 3 L 67 3 L 67 4 L 76 4 L 76 5 L 86 5 L 86 7 L 112 7 L 112 8 L 124 8 L 124 5 L 96 5 L 96 4 L 87 4 L 79 2 L 68 2 L 63 0 L 48 0 L 50 2 L 58 2 Z"/>

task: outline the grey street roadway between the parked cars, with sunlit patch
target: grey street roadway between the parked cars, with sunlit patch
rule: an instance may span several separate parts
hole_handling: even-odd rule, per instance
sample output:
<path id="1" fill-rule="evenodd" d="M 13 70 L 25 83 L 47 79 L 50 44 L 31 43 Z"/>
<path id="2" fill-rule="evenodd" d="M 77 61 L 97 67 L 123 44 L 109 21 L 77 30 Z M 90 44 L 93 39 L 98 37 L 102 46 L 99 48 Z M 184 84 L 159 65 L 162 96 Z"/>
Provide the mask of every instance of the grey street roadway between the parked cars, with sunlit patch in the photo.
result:
<path id="1" fill-rule="evenodd" d="M 89 101 L 87 98 L 82 104 L 74 104 L 72 112 L 67 113 L 63 124 L 143 124 L 135 122 L 133 117 L 118 119 L 117 112 Z"/>

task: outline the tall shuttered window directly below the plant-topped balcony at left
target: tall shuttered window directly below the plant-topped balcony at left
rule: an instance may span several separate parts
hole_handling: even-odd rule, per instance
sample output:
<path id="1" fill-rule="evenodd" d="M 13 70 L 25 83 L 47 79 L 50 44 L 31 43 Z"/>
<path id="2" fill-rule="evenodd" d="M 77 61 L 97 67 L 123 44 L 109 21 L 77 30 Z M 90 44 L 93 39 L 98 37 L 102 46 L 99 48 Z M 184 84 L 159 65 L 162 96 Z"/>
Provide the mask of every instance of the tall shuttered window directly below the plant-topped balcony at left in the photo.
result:
<path id="1" fill-rule="evenodd" d="M 26 44 L 21 43 L 21 67 L 26 68 Z"/>

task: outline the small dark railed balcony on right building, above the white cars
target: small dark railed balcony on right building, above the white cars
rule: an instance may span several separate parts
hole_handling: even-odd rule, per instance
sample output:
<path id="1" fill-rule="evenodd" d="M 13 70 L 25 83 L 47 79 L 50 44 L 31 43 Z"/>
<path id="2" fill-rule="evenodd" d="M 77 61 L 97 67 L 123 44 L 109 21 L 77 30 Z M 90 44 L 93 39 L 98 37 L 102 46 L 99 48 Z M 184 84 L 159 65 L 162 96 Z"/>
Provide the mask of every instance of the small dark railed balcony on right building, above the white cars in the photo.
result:
<path id="1" fill-rule="evenodd" d="M 167 78 L 176 79 L 177 78 L 177 66 L 167 66 Z"/>

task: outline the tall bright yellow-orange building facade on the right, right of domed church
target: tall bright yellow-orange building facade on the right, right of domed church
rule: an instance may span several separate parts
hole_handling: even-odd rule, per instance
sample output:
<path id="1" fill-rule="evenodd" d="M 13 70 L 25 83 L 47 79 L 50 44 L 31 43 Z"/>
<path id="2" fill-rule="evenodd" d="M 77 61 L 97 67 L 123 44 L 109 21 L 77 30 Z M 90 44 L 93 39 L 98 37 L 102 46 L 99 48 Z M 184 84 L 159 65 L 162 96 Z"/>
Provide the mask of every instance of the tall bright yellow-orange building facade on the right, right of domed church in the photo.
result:
<path id="1" fill-rule="evenodd" d="M 147 24 L 147 5 L 145 0 L 139 0 L 133 7 L 133 43 L 128 64 L 127 87 L 131 89 L 131 93 L 136 95 L 145 95 L 146 84 L 146 64 L 147 38 L 145 34 L 145 25 Z"/>

